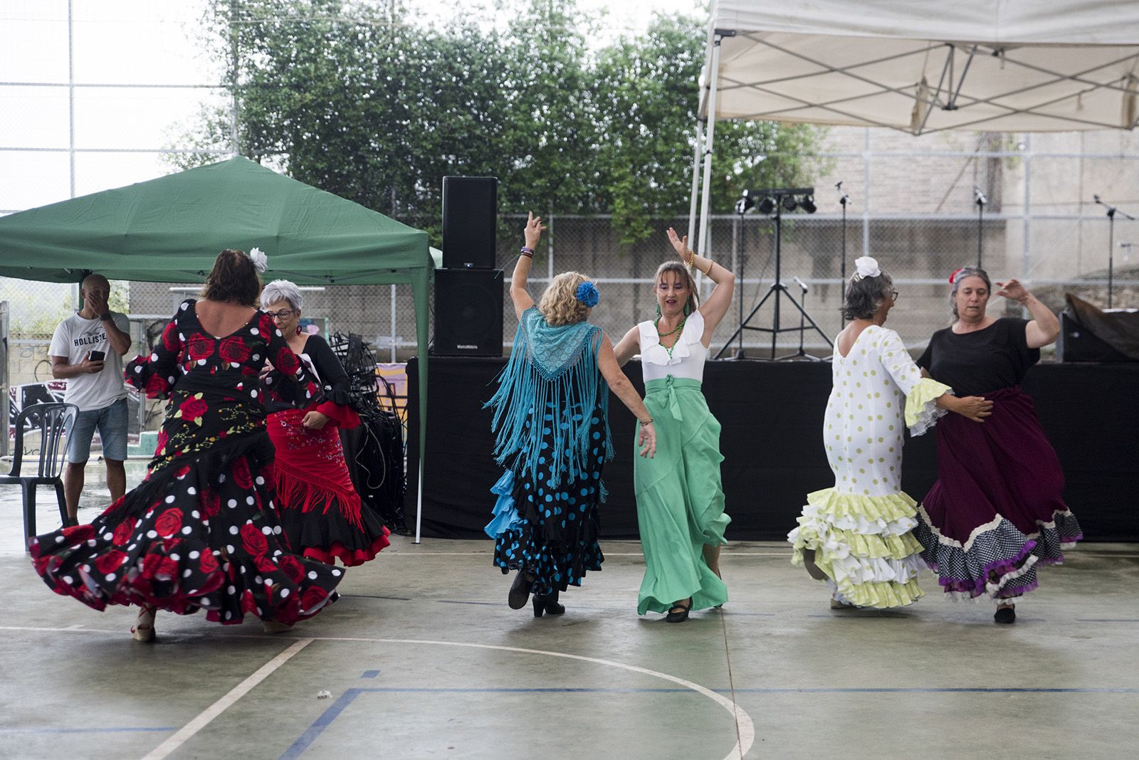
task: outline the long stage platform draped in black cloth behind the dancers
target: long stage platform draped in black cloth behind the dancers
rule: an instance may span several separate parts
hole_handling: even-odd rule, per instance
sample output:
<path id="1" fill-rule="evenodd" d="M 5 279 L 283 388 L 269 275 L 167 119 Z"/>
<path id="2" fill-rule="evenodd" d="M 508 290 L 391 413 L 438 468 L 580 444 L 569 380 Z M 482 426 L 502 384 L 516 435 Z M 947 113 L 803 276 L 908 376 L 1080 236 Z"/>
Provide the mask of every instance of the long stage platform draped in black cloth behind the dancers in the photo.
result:
<path id="1" fill-rule="evenodd" d="M 418 430 L 417 372 L 408 364 L 409 430 Z M 505 358 L 431 357 L 425 536 L 477 538 L 490 520 L 491 486 L 502 474 L 491 455 L 491 414 L 482 407 Z M 625 373 L 638 391 L 640 365 Z M 732 518 L 729 540 L 779 540 L 812 490 L 834 485 L 822 447 L 830 364 L 708 362 L 704 390 L 723 426 L 723 490 Z M 1139 542 L 1139 364 L 1039 364 L 1025 378 L 1064 466 L 1064 498 L 1087 540 Z M 606 464 L 607 539 L 637 538 L 632 491 L 632 414 L 611 396 L 616 459 Z M 907 439 L 902 487 L 920 501 L 936 479 L 936 433 Z M 416 511 L 418 441 L 408 447 L 408 522 Z"/>

